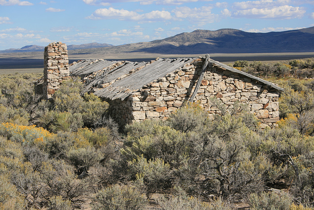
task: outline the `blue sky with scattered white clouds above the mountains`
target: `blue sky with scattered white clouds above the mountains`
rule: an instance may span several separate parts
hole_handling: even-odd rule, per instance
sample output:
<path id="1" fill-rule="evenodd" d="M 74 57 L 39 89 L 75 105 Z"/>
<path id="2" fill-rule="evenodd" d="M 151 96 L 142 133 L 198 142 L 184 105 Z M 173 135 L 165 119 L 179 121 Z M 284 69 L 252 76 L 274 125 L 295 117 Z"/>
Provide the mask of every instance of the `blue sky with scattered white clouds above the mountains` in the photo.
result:
<path id="1" fill-rule="evenodd" d="M 196 29 L 314 26 L 314 0 L 0 0 L 0 50 L 53 41 L 121 45 Z"/>

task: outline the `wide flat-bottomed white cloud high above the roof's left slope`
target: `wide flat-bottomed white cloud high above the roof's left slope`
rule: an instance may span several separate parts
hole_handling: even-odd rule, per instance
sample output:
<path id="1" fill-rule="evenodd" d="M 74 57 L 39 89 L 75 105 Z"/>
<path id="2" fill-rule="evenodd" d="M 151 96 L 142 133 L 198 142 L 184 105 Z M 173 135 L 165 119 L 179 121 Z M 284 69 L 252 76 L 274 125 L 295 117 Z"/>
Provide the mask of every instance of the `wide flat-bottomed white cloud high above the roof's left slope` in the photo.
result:
<path id="1" fill-rule="evenodd" d="M 133 20 L 133 21 L 159 21 L 170 20 L 171 14 L 168 11 L 151 11 L 145 14 L 138 14 L 134 11 L 125 9 L 114 9 L 112 7 L 97 9 L 89 19 L 119 19 L 119 20 Z"/>

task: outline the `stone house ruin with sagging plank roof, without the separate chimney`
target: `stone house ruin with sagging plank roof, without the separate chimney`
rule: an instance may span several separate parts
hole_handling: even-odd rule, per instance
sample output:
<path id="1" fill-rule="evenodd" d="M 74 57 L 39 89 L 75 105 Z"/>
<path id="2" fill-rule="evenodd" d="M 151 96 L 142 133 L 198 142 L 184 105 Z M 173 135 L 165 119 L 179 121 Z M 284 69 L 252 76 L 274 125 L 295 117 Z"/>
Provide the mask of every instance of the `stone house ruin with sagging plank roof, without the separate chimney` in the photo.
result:
<path id="1" fill-rule="evenodd" d="M 272 126 L 279 120 L 278 98 L 284 91 L 209 55 L 150 62 L 79 60 L 70 64 L 69 71 L 70 76 L 83 79 L 85 92 L 94 92 L 109 103 L 111 117 L 120 125 L 166 119 L 184 101 L 197 101 L 209 114 L 218 114 L 210 103 L 216 97 L 227 109 L 235 101 L 247 104 L 262 127 Z"/>

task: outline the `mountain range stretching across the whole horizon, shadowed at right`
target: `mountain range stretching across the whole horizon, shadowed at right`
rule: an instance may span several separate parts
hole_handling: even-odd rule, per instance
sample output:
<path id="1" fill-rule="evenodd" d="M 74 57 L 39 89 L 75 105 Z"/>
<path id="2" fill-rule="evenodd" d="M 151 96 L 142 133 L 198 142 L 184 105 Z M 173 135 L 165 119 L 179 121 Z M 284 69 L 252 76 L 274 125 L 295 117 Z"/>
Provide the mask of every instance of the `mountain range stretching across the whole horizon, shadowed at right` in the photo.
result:
<path id="1" fill-rule="evenodd" d="M 44 47 L 25 46 L 0 53 L 37 52 Z M 255 33 L 236 29 L 194 30 L 165 39 L 113 46 L 90 43 L 68 45 L 69 54 L 156 53 L 156 54 L 207 54 L 207 53 L 293 53 L 314 52 L 314 27 L 281 32 Z"/>

